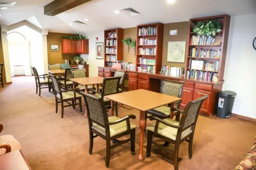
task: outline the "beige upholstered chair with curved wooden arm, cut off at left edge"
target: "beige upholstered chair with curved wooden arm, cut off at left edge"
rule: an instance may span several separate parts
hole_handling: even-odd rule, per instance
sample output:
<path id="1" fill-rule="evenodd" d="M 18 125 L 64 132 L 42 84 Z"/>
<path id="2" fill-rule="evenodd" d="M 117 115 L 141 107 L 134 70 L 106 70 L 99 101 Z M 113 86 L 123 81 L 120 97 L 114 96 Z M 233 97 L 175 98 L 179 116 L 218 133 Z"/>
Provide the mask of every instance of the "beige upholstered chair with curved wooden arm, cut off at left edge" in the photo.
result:
<path id="1" fill-rule="evenodd" d="M 0 133 L 3 131 L 4 127 L 0 123 Z M 20 143 L 12 135 L 0 136 L 0 155 L 7 154 L 11 151 L 16 151 L 22 149 Z"/>

